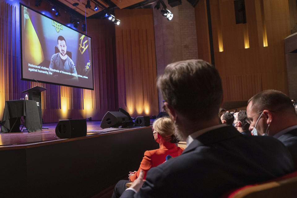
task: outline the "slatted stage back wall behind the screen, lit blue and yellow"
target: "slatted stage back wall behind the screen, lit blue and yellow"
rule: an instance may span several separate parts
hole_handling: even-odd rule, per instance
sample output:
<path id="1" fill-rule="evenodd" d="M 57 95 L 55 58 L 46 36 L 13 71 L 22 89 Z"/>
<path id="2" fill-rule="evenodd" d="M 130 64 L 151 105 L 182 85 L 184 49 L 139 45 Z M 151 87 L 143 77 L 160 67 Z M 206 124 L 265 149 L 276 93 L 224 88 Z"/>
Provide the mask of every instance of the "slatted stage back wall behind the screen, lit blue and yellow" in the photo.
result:
<path id="1" fill-rule="evenodd" d="M 52 13 L 47 2 L 35 7 L 35 1 L 28 3 L 37 11 Z M 101 120 L 107 111 L 118 109 L 118 79 L 115 51 L 114 24 L 105 19 L 88 19 L 87 34 L 92 37 L 94 90 L 70 88 L 52 84 L 22 81 L 20 69 L 19 2 L 0 0 L 0 120 L 6 100 L 19 100 L 21 92 L 36 85 L 47 88 L 41 94 L 42 118 L 45 123 L 60 119 L 92 117 Z M 55 18 L 63 24 L 69 22 L 69 15 L 61 12 Z M 79 29 L 78 29 L 79 30 Z"/>

